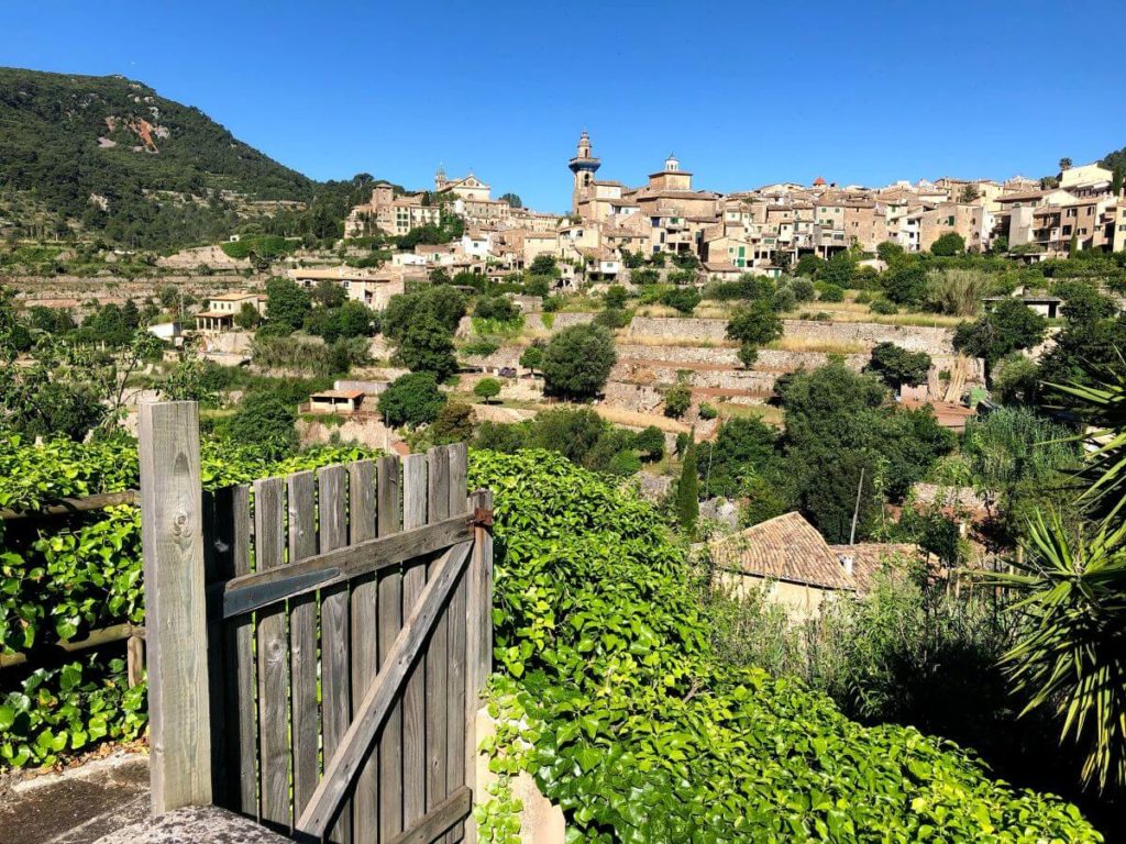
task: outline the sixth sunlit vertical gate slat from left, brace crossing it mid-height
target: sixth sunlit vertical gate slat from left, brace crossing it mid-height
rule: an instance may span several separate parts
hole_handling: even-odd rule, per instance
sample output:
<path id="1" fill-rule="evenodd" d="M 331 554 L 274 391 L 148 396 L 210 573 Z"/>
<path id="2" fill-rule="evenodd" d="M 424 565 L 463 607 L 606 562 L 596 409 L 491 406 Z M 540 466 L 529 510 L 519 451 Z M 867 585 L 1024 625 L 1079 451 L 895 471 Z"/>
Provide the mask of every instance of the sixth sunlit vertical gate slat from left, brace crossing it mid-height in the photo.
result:
<path id="1" fill-rule="evenodd" d="M 402 530 L 399 458 L 379 458 L 379 536 Z M 383 671 L 391 646 L 403 625 L 403 575 L 399 567 L 385 568 L 379 584 L 379 670 Z M 383 725 L 373 756 L 379 766 L 379 841 L 403 830 L 403 710 L 396 695 Z M 370 762 L 370 760 L 368 760 Z"/>

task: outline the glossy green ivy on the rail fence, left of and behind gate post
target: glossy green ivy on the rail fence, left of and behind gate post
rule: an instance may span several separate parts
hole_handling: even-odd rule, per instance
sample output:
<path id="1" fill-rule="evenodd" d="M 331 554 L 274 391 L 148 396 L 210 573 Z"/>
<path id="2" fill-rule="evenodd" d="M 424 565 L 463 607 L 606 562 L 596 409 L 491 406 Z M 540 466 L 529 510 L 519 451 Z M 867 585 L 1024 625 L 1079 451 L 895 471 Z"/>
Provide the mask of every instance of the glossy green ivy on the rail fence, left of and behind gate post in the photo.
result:
<path id="1" fill-rule="evenodd" d="M 261 448 L 204 440 L 206 490 L 355 460 L 357 449 L 320 448 L 282 461 Z M 120 492 L 138 484 L 129 437 L 41 446 L 0 438 L 0 506 L 35 511 L 62 497 Z M 143 623 L 141 518 L 133 505 L 46 523 L 0 522 L 0 653 L 28 653 L 57 638 Z M 136 738 L 146 722 L 145 688 L 127 688 L 120 646 L 53 667 L 8 668 L 0 691 L 0 761 L 54 764 L 104 739 Z"/>

